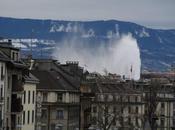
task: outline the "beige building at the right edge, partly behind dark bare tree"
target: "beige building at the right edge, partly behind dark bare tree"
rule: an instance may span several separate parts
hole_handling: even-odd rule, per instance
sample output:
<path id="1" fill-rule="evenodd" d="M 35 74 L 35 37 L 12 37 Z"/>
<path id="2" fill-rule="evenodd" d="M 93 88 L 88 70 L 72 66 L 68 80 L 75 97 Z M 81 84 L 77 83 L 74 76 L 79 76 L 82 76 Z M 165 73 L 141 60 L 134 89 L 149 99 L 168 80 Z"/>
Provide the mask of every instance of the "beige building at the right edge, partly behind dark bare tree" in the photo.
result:
<path id="1" fill-rule="evenodd" d="M 136 82 L 145 102 L 145 129 L 173 130 L 174 84 L 167 75 L 149 75 Z M 146 125 L 150 122 L 149 126 Z"/>

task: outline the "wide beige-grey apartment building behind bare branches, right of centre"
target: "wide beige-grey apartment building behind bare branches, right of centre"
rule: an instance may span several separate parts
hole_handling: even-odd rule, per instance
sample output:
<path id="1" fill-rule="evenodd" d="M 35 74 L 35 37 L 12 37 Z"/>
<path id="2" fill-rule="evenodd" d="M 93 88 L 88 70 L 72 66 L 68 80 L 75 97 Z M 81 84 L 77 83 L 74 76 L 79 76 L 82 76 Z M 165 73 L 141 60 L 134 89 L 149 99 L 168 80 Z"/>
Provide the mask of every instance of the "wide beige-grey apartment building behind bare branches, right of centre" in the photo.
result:
<path id="1" fill-rule="evenodd" d="M 81 105 L 81 129 L 142 129 L 142 93 L 130 85 L 117 75 L 88 74 L 80 89 L 87 104 Z"/>

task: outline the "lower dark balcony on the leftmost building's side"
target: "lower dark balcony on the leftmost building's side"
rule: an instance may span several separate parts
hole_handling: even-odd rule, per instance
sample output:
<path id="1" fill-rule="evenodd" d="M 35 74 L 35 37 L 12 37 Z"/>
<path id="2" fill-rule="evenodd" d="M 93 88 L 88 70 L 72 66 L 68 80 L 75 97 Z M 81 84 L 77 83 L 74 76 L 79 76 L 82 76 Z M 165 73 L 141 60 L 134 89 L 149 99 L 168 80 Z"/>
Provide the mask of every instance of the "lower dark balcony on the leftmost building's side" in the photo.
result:
<path id="1" fill-rule="evenodd" d="M 22 99 L 17 98 L 17 95 L 12 95 L 12 107 L 11 112 L 22 112 L 23 106 L 22 106 Z"/>

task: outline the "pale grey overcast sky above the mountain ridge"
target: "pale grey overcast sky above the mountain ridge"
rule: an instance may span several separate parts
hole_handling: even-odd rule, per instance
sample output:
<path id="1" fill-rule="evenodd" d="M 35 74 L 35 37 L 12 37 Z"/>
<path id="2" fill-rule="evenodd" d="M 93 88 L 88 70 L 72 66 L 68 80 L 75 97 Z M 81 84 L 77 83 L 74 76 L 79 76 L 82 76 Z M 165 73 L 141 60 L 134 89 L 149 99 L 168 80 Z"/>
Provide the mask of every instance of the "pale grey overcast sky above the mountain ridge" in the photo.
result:
<path id="1" fill-rule="evenodd" d="M 175 29 L 175 0 L 0 0 L 0 16 L 135 22 Z"/>

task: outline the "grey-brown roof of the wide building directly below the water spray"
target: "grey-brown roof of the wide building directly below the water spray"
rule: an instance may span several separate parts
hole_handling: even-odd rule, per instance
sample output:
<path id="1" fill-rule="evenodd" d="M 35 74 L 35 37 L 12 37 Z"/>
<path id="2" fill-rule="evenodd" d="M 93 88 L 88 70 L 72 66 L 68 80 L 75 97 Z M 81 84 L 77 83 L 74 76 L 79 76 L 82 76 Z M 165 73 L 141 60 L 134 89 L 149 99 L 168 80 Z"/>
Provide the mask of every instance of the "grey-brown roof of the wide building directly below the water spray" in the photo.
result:
<path id="1" fill-rule="evenodd" d="M 83 85 L 88 86 L 93 93 L 120 93 L 120 94 L 139 94 L 130 87 L 131 82 L 121 80 L 115 75 L 101 76 L 96 75 L 93 78 L 85 79 Z"/>

